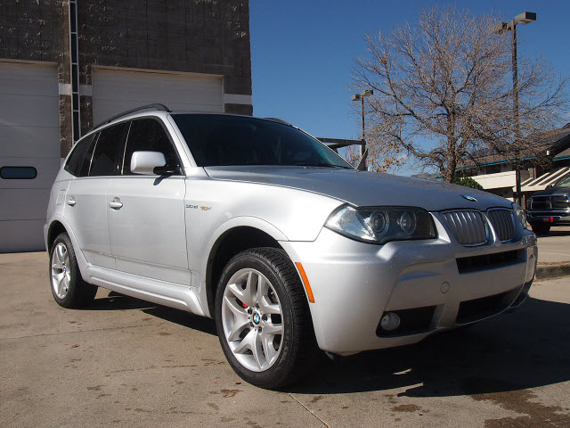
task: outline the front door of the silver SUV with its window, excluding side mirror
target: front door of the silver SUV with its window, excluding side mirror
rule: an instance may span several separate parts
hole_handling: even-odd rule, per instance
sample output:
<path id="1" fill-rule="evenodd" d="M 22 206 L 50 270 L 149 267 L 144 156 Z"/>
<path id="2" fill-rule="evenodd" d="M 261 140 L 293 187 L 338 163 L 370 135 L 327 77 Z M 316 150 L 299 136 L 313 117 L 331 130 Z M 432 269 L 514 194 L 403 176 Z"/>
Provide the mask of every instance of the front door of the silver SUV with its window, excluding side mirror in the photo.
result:
<path id="1" fill-rule="evenodd" d="M 134 152 L 162 152 L 177 169 L 169 177 L 142 176 L 130 169 Z M 190 285 L 184 222 L 184 176 L 167 129 L 157 118 L 134 119 L 121 176 L 110 185 L 110 246 L 117 270 Z"/>

